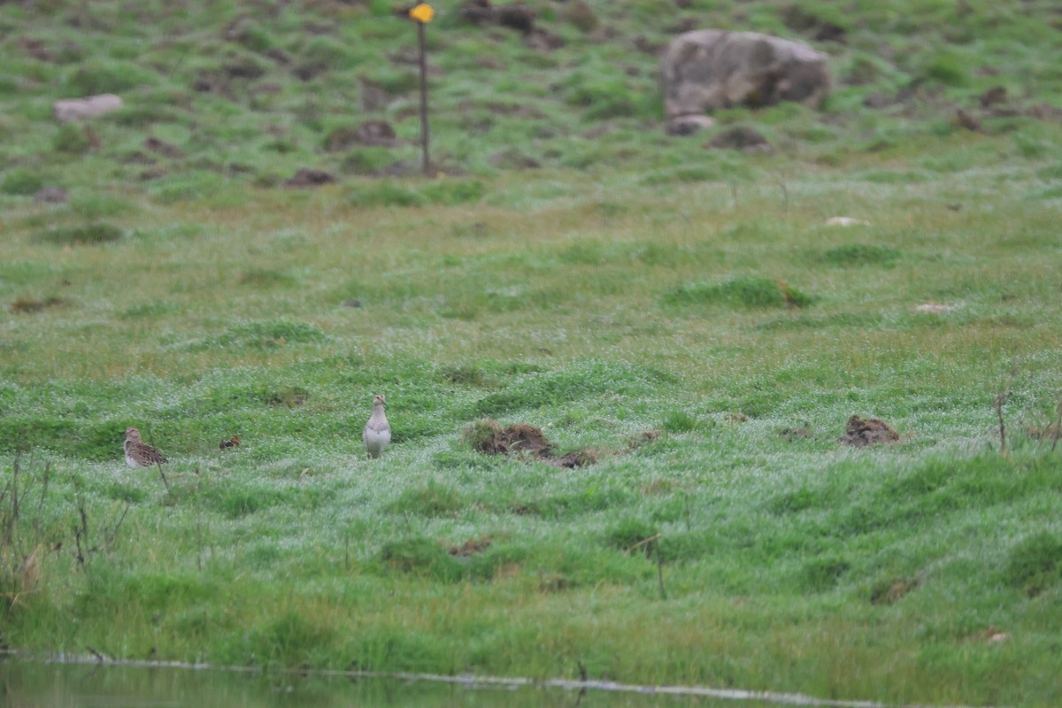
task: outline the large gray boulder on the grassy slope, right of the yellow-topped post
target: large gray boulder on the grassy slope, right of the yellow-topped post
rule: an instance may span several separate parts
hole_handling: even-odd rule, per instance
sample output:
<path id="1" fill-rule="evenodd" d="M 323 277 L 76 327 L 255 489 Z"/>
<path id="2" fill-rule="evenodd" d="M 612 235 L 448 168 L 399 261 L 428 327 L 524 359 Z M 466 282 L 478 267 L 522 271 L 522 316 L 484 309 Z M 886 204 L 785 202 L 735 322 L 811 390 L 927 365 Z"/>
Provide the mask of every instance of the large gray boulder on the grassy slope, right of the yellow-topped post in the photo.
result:
<path id="1" fill-rule="evenodd" d="M 829 91 L 826 58 L 802 41 L 756 32 L 687 32 L 661 63 L 664 113 L 673 121 L 735 105 L 818 107 Z"/>

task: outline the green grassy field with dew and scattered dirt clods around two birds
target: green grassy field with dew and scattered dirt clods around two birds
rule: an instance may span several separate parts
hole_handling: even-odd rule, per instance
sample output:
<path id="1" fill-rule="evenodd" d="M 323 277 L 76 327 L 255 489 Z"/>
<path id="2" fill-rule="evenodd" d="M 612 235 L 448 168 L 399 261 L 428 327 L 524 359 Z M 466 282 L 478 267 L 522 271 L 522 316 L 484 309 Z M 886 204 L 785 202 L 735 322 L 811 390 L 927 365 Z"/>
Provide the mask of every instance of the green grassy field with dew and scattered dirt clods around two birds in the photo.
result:
<path id="1" fill-rule="evenodd" d="M 3 642 L 1057 705 L 1060 18 L 965 6 L 809 3 L 823 110 L 719 116 L 769 155 L 665 137 L 630 45 L 800 36 L 783 3 L 543 3 L 554 52 L 442 8 L 434 179 L 365 176 L 417 159 L 388 6 L 0 6 Z M 49 120 L 83 89 L 127 107 Z M 325 149 L 364 117 L 402 142 Z M 483 418 L 597 462 L 481 454 Z"/>

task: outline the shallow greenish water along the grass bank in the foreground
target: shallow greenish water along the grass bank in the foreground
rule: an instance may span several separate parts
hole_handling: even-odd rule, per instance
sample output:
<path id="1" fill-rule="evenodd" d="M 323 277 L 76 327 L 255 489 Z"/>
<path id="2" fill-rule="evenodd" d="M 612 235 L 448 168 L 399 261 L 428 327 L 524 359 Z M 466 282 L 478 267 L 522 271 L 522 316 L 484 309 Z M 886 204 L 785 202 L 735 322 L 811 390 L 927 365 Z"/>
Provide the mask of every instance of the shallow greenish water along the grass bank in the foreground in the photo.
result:
<path id="1" fill-rule="evenodd" d="M 576 690 L 526 686 L 0 659 L 0 706 L 10 708 L 768 708 L 777 705 L 593 689 L 580 694 Z"/>

